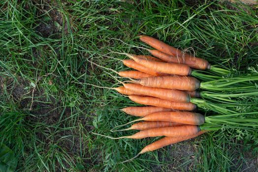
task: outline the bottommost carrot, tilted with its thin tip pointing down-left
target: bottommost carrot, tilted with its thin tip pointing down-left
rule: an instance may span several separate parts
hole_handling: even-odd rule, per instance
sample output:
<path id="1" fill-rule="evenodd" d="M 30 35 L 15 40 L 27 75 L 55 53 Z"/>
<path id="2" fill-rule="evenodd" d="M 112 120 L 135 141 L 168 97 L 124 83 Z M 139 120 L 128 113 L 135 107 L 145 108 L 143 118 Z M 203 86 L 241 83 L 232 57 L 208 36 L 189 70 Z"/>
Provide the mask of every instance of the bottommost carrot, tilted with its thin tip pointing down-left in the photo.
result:
<path id="1" fill-rule="evenodd" d="M 157 150 L 157 149 L 160 149 L 164 146 L 167 146 L 169 144 L 173 144 L 173 143 L 178 143 L 178 142 L 182 142 L 182 141 L 186 141 L 186 140 L 189 140 L 189 139 L 193 139 L 203 133 L 205 133 L 207 131 L 199 131 L 197 134 L 194 134 L 194 135 L 191 135 L 191 136 L 187 136 L 187 137 L 164 137 L 154 143 L 151 143 L 147 146 L 145 146 L 135 157 L 129 159 L 129 160 L 126 160 L 124 162 L 121 162 L 121 163 L 125 163 L 125 162 L 128 162 L 128 161 L 131 161 L 133 159 L 135 159 L 136 157 L 138 157 L 140 154 L 143 154 L 143 153 L 146 153 L 146 152 L 151 152 L 151 151 L 154 151 L 154 150 Z"/>

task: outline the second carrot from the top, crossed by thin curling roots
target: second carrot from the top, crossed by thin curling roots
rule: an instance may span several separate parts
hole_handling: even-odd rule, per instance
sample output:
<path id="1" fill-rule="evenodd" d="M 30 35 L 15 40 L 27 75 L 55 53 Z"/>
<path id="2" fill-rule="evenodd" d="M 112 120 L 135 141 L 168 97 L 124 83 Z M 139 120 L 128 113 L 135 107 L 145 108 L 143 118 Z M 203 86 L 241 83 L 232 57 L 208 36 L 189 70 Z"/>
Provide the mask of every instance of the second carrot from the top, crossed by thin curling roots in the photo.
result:
<path id="1" fill-rule="evenodd" d="M 210 69 L 211 65 L 209 62 L 202 58 L 197 58 L 190 56 L 188 54 L 185 54 L 184 56 L 175 56 L 175 55 L 168 55 L 165 53 L 160 52 L 159 50 L 149 50 L 148 51 L 155 57 L 158 57 L 164 61 L 172 62 L 172 63 L 180 63 L 180 64 L 186 64 L 194 69 Z"/>

